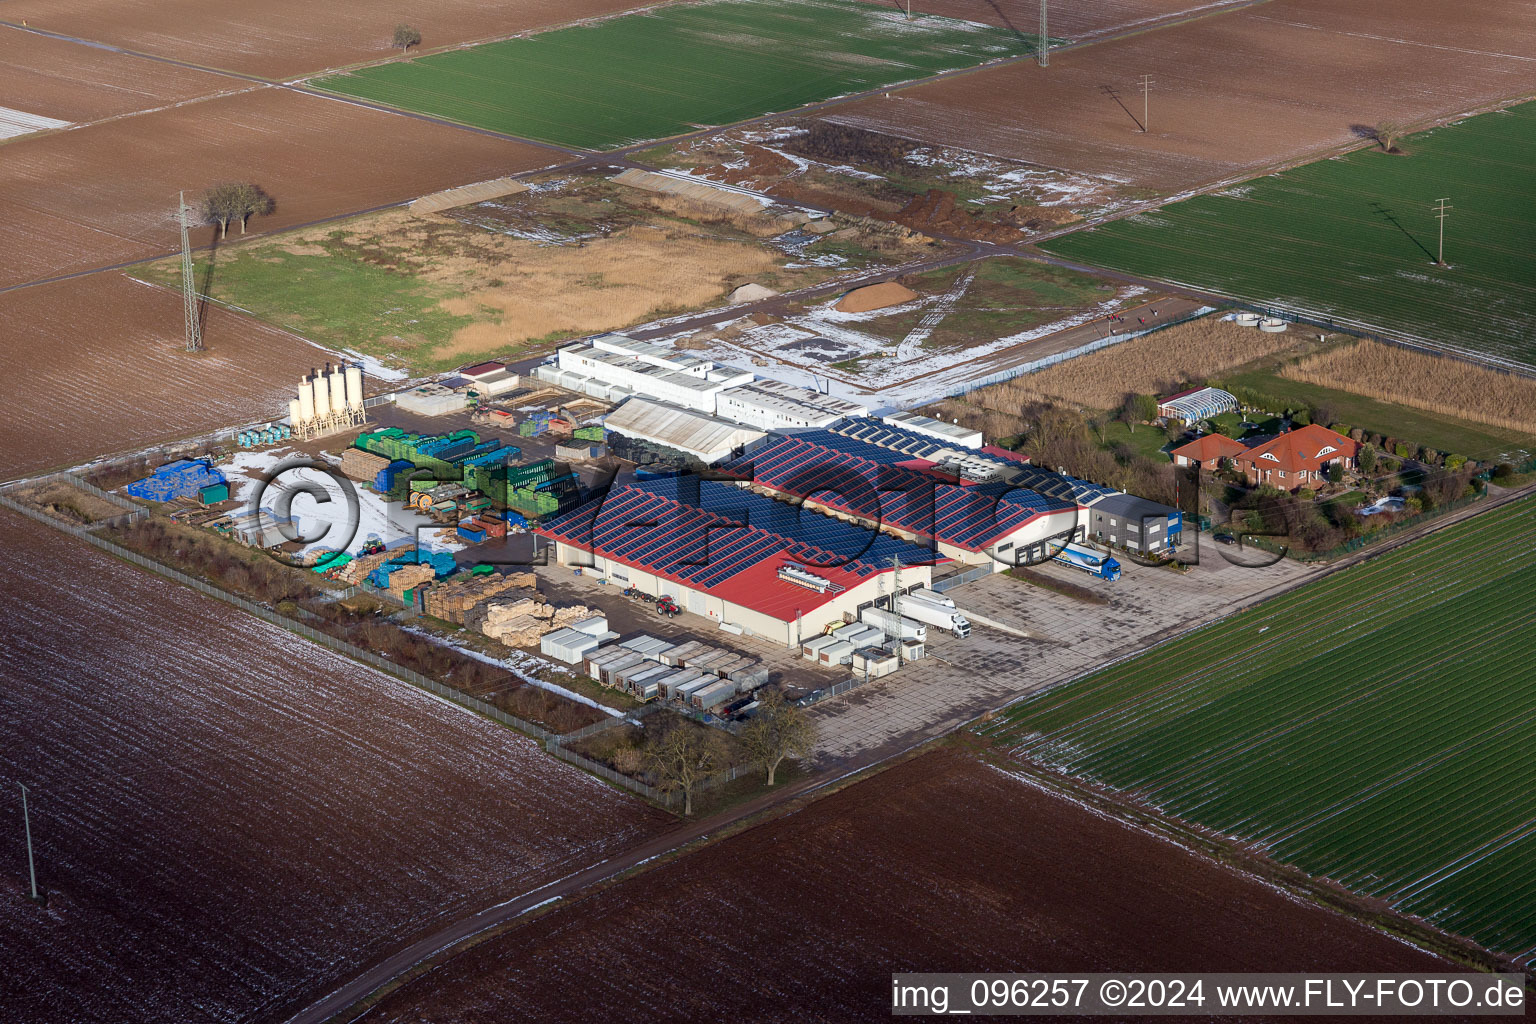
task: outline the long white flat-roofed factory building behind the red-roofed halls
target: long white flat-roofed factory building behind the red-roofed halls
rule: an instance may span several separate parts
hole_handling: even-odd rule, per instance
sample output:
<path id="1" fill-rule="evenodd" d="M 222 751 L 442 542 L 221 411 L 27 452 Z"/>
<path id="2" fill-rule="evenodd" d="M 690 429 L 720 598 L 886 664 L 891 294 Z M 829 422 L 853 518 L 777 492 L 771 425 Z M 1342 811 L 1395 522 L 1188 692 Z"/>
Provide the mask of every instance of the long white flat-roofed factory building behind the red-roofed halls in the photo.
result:
<path id="1" fill-rule="evenodd" d="M 757 381 L 751 370 L 720 365 L 624 335 L 599 335 L 561 348 L 554 364 L 535 370 L 548 384 L 608 402 L 631 396 L 716 416 L 759 430 L 826 427 L 863 416 L 863 405 L 831 395 Z"/>

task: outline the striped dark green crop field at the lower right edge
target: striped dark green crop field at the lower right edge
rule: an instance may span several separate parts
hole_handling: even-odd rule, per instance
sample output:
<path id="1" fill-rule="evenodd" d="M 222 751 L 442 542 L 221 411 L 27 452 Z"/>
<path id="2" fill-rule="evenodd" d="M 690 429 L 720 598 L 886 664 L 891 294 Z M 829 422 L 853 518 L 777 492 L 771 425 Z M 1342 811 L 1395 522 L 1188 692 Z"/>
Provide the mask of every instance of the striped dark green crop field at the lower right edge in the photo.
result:
<path id="1" fill-rule="evenodd" d="M 1536 499 L 991 722 L 1017 757 L 1536 963 Z"/>

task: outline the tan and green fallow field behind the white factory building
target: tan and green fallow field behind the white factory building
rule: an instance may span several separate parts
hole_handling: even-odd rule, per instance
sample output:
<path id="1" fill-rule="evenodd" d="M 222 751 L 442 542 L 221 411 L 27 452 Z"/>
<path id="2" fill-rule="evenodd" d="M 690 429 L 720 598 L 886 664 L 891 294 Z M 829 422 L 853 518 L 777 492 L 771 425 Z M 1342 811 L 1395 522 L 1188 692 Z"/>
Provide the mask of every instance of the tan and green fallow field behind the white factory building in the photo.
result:
<path id="1" fill-rule="evenodd" d="M 791 290 L 922 252 L 843 259 L 817 241 L 785 252 L 794 224 L 611 183 L 531 180 L 530 192 L 444 213 L 386 210 L 287 232 L 215 256 L 209 293 L 267 322 L 412 372 L 722 304 L 757 282 Z M 823 250 L 828 250 L 823 253 Z M 135 270 L 177 287 L 180 261 Z"/>

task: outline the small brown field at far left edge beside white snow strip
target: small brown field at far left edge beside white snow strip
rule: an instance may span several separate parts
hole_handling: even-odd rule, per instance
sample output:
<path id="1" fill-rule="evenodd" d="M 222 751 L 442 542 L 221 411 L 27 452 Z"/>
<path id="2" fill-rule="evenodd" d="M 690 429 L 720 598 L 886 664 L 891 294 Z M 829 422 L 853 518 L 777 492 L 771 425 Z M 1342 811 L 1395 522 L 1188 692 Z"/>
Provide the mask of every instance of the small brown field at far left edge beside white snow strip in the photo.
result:
<path id="1" fill-rule="evenodd" d="M 204 71 L 0 26 L 0 106 L 14 111 L 92 121 L 249 88 Z"/>

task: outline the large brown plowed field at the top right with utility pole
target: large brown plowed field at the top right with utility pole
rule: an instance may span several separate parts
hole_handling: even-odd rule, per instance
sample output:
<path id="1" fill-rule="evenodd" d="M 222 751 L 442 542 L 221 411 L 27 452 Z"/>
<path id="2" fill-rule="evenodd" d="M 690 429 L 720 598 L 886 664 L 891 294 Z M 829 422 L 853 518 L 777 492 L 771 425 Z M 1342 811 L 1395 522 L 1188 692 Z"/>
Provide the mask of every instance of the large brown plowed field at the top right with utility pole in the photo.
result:
<path id="1" fill-rule="evenodd" d="M 900 91 L 828 115 L 1158 193 L 1359 143 L 1536 89 L 1525 0 L 1273 0 Z M 1154 80 L 1141 132 L 1140 77 Z"/>

